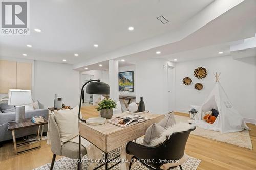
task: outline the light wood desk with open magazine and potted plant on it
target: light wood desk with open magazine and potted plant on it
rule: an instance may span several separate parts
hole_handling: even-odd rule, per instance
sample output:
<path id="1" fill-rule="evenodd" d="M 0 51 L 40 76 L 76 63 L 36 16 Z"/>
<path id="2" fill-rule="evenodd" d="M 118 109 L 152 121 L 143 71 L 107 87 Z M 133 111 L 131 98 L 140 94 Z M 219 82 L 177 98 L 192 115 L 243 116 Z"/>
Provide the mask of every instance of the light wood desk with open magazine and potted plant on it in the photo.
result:
<path id="1" fill-rule="evenodd" d="M 128 113 L 115 114 L 113 117 L 119 115 L 129 115 Z M 86 123 L 79 123 L 80 136 L 94 144 L 97 148 L 105 153 L 105 162 L 107 162 L 108 152 L 121 147 L 129 141 L 135 140 L 143 136 L 147 128 L 152 123 L 160 122 L 164 115 L 144 113 L 141 116 L 151 118 L 145 122 L 141 122 L 132 126 L 121 128 L 117 125 L 105 123 L 102 125 L 87 125 Z M 110 167 L 112 168 L 112 167 Z M 108 163 L 105 163 L 105 169 L 108 168 Z"/>

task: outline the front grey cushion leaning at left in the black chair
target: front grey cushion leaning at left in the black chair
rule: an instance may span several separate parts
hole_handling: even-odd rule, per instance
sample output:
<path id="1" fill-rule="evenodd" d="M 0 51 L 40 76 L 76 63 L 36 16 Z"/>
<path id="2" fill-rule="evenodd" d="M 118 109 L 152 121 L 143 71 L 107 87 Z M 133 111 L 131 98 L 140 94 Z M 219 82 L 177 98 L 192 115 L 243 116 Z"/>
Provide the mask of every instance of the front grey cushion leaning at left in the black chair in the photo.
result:
<path id="1" fill-rule="evenodd" d="M 149 145 L 151 141 L 157 137 L 160 137 L 161 133 L 165 131 L 163 127 L 153 123 L 150 127 L 147 128 L 144 139 L 143 145 Z"/>

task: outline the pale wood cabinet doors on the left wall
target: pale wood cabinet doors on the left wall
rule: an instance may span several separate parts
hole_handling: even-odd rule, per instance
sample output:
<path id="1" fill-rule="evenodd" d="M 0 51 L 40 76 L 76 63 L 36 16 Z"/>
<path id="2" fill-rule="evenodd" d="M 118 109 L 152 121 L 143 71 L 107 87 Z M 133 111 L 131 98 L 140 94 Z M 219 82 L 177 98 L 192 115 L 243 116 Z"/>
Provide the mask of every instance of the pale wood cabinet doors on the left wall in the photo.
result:
<path id="1" fill-rule="evenodd" d="M 0 60 L 0 94 L 9 89 L 31 90 L 32 63 Z"/>

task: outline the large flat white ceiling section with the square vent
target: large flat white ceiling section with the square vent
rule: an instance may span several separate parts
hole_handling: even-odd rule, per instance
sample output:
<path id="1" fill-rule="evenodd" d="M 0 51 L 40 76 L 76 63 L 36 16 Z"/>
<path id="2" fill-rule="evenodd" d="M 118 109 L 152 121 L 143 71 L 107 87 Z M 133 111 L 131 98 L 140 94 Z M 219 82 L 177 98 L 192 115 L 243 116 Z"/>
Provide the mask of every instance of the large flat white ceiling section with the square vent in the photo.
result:
<path id="1" fill-rule="evenodd" d="M 214 0 L 30 1 L 29 36 L 1 36 L 0 56 L 75 64 L 179 28 Z M 163 15 L 163 25 L 156 17 Z M 134 31 L 127 27 L 133 26 Z M 41 33 L 33 29 L 41 29 Z M 95 48 L 94 44 L 99 44 Z M 32 48 L 26 47 L 27 44 Z M 22 56 L 26 53 L 28 56 Z M 79 57 L 75 57 L 78 53 Z"/>

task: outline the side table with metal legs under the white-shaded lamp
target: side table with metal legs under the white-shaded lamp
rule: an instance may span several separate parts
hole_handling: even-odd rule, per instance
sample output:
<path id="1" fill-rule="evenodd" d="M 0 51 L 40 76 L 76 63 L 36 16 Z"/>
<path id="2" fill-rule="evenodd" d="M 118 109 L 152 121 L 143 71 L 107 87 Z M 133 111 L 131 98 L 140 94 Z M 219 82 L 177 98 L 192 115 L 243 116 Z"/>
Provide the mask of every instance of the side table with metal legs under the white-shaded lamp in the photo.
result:
<path id="1" fill-rule="evenodd" d="M 20 122 L 20 123 L 8 122 L 7 131 L 12 131 L 15 154 L 21 154 L 27 151 L 41 148 L 42 133 L 44 132 L 44 125 L 46 124 L 48 124 L 48 120 L 45 118 L 44 118 L 44 122 L 39 122 L 39 123 L 33 123 L 31 121 L 31 118 L 26 118 L 23 122 Z M 38 126 L 37 139 L 33 141 L 27 141 L 27 142 L 17 144 L 16 137 L 15 137 L 15 130 L 30 128 L 34 126 Z M 41 129 L 41 136 L 39 136 L 40 129 Z"/>

